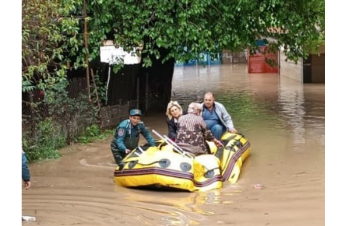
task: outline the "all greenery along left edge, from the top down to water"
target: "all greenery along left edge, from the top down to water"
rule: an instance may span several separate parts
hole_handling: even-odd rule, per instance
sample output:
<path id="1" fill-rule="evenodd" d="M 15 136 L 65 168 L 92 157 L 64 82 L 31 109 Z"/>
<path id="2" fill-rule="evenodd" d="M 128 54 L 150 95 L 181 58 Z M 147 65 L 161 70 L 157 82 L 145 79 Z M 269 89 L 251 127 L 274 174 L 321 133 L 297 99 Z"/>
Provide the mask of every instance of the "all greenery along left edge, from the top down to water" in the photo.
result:
<path id="1" fill-rule="evenodd" d="M 99 109 L 86 94 L 68 92 L 69 62 L 85 65 L 75 64 L 77 56 L 86 53 L 79 38 L 83 20 L 72 14 L 78 4 L 79 0 L 22 0 L 22 144 L 30 160 L 57 158 L 58 148 L 96 122 Z"/>

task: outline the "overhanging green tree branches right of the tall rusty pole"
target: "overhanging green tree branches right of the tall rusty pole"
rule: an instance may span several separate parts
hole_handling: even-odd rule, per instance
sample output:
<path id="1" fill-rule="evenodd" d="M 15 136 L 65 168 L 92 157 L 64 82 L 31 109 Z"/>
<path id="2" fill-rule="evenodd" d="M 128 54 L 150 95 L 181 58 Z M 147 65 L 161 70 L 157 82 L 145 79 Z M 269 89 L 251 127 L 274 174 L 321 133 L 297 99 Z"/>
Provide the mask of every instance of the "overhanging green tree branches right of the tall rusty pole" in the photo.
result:
<path id="1" fill-rule="evenodd" d="M 157 59 L 157 49 L 168 49 L 162 61 L 254 49 L 257 39 L 268 38 L 297 61 L 325 34 L 324 0 L 90 0 L 87 9 L 92 58 L 106 38 L 127 49 L 143 45 L 143 54 Z"/>

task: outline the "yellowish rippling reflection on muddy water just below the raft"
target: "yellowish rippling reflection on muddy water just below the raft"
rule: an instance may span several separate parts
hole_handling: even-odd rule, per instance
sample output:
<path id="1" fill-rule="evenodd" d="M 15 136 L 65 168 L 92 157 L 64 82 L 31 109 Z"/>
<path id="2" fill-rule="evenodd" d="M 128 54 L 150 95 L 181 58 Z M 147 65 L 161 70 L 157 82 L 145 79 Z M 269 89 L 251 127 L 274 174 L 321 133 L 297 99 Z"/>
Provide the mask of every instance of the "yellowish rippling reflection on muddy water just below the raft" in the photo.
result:
<path id="1" fill-rule="evenodd" d="M 230 191 L 229 191 L 230 190 Z M 214 190 L 208 192 L 152 192 L 131 190 L 125 197 L 125 206 L 130 206 L 137 211 L 160 215 L 161 225 L 164 226 L 188 226 L 201 225 L 206 216 L 216 216 L 216 212 L 206 210 L 204 206 L 230 205 L 231 196 L 239 195 L 237 188 L 227 192 Z M 168 197 L 168 198 L 166 198 Z M 138 211 L 139 212 L 139 211 Z M 141 224 L 147 225 L 149 214 L 140 215 Z"/>

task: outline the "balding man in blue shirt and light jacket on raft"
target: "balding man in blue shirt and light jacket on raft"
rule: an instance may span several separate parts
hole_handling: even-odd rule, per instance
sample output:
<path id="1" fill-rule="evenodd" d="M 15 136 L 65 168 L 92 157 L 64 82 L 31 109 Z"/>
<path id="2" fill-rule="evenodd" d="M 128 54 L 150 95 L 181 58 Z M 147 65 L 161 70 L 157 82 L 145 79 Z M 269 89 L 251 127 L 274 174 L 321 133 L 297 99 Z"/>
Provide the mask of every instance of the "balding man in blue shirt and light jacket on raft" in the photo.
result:
<path id="1" fill-rule="evenodd" d="M 237 133 L 225 106 L 216 102 L 211 92 L 205 93 L 202 106 L 201 116 L 216 139 L 220 140 L 226 131 Z"/>

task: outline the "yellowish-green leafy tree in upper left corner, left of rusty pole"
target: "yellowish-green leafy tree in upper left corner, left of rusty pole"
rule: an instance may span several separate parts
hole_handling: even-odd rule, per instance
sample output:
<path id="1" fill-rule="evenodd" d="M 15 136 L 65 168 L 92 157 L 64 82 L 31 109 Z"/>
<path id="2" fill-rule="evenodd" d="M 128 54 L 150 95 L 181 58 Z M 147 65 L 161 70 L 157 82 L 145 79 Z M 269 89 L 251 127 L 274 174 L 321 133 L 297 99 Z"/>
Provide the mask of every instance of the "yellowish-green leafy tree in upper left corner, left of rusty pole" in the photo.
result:
<path id="1" fill-rule="evenodd" d="M 22 91 L 44 90 L 66 76 L 68 56 L 76 54 L 79 19 L 70 16 L 73 1 L 22 1 Z"/>

